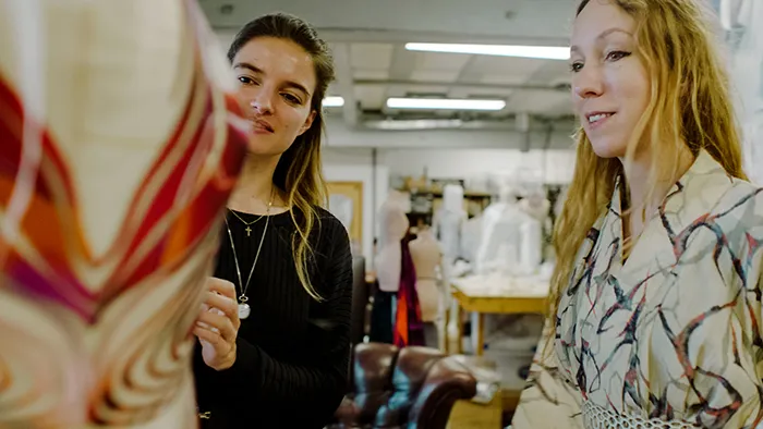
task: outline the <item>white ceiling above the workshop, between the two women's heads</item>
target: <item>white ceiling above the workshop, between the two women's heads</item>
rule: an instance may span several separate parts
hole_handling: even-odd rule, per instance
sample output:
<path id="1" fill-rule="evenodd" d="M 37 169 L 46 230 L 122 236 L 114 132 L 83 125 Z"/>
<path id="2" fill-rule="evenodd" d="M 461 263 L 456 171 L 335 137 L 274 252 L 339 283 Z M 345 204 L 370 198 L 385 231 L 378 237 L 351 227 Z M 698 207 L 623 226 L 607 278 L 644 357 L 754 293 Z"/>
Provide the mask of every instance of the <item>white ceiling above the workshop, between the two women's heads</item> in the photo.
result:
<path id="1" fill-rule="evenodd" d="M 570 113 L 566 61 L 412 52 L 410 41 L 566 46 L 578 0 L 201 0 L 223 44 L 251 19 L 283 11 L 311 22 L 334 51 L 348 124 L 388 117 L 556 119 Z M 500 98 L 500 112 L 389 111 L 388 97 Z"/>

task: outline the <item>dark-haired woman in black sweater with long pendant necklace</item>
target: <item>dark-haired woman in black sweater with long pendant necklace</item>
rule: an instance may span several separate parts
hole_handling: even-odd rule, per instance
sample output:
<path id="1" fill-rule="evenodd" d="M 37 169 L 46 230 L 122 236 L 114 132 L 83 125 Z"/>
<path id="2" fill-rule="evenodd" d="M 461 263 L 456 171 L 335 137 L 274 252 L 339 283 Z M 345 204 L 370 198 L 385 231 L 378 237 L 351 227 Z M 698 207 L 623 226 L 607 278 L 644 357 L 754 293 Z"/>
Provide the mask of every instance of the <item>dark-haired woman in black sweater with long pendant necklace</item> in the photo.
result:
<path id="1" fill-rule="evenodd" d="M 194 331 L 202 426 L 323 428 L 347 387 L 352 295 L 347 231 L 322 208 L 332 60 L 286 14 L 246 24 L 228 58 L 251 135 L 215 269 L 238 311 L 203 311 Z"/>

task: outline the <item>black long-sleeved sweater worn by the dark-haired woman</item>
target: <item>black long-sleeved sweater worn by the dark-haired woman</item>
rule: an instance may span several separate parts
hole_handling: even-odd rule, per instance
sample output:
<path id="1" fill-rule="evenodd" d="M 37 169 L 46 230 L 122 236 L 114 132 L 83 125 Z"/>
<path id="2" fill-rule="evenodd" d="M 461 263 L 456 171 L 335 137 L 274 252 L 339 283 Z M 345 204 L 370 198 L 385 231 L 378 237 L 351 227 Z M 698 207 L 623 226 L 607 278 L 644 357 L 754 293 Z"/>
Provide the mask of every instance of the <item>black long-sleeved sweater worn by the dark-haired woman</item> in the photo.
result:
<path id="1" fill-rule="evenodd" d="M 294 269 L 289 212 L 270 217 L 259 259 L 246 295 L 252 312 L 241 321 L 235 364 L 216 371 L 204 364 L 201 345 L 194 373 L 203 428 L 323 428 L 347 388 L 350 357 L 352 257 L 347 230 L 334 216 L 318 211 L 310 242 L 316 302 Z M 257 216 L 237 212 L 247 222 Z M 245 225 L 228 212 L 243 283 L 252 268 L 266 218 Z M 301 216 L 299 212 L 296 216 Z M 233 250 L 222 226 L 215 277 L 231 281 L 241 294 Z"/>

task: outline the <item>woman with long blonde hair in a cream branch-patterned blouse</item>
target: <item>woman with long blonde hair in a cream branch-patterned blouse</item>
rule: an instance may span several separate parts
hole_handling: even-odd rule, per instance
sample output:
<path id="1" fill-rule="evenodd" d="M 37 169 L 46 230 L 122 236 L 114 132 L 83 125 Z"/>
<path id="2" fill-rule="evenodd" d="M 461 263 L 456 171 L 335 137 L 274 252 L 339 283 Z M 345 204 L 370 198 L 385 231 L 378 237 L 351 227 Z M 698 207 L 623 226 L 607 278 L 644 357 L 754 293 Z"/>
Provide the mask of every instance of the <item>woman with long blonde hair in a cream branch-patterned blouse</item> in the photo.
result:
<path id="1" fill-rule="evenodd" d="M 756 427 L 763 189 L 704 11 L 583 0 L 571 46 L 577 166 L 513 427 Z"/>

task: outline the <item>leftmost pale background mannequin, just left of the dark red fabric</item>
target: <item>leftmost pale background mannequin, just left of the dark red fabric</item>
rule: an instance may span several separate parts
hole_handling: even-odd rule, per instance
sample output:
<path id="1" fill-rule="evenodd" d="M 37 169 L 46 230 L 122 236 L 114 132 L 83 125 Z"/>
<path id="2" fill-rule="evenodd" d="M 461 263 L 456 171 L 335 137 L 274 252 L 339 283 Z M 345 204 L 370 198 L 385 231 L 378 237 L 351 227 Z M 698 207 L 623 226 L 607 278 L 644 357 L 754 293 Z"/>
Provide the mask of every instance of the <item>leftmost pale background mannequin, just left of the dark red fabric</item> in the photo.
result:
<path id="1" fill-rule="evenodd" d="M 405 216 L 404 196 L 391 191 L 379 209 L 379 241 L 376 256 L 376 279 L 379 290 L 397 292 L 400 289 L 402 255 L 400 241 L 405 236 L 409 220 Z"/>

